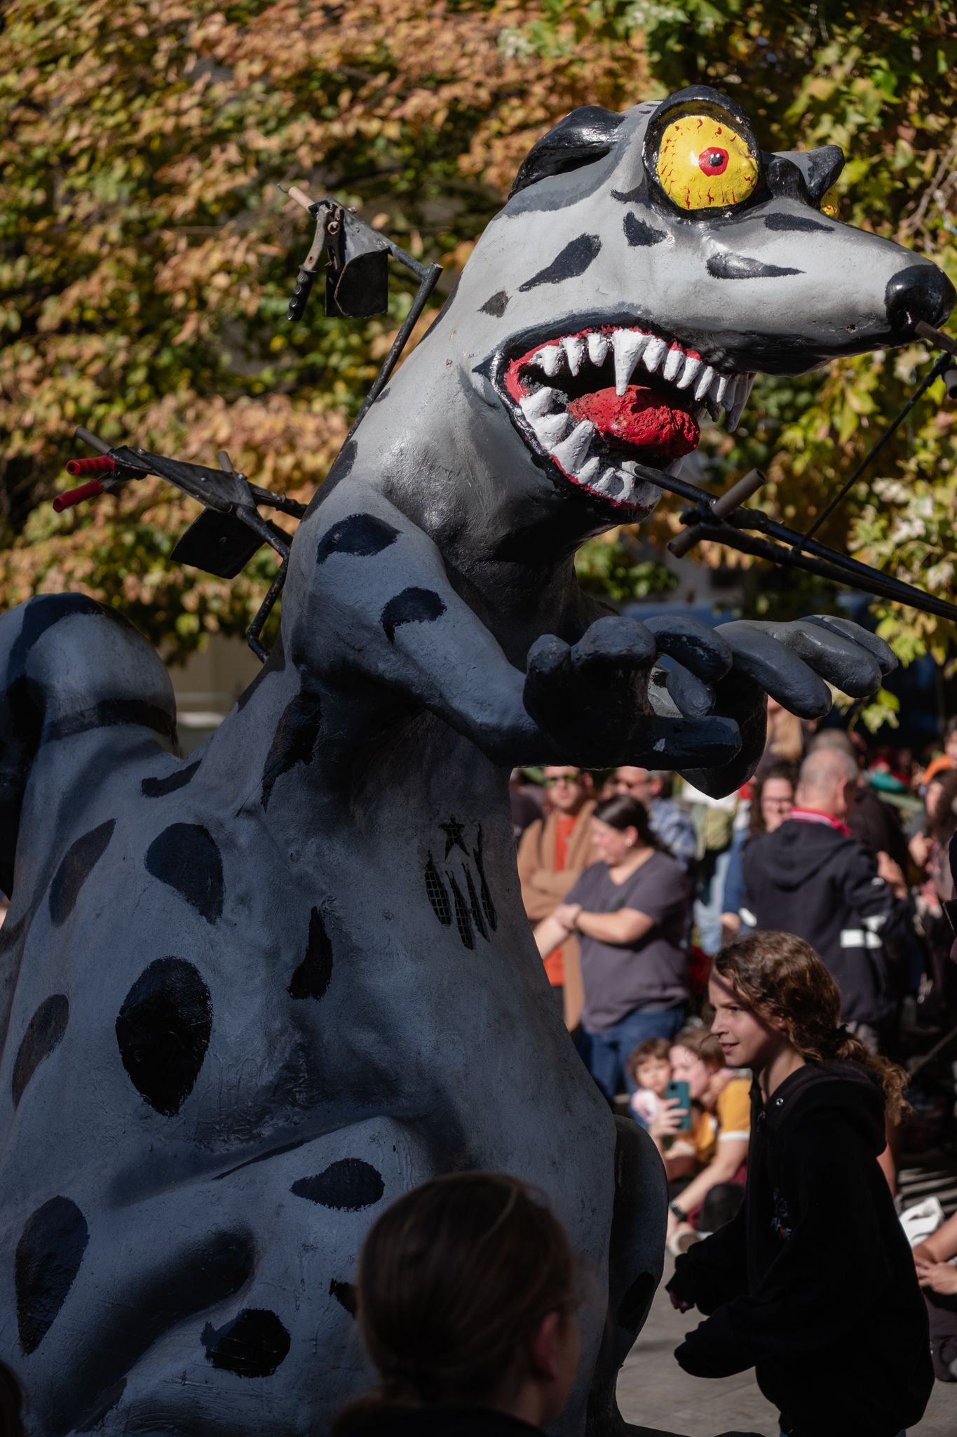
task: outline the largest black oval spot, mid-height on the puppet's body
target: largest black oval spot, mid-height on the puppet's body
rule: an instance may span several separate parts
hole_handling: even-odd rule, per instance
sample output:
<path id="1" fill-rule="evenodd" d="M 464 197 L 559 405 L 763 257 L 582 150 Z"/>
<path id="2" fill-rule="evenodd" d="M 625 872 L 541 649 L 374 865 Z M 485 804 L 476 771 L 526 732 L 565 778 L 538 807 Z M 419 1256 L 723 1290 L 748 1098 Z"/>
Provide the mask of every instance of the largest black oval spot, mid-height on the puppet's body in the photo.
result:
<path id="1" fill-rule="evenodd" d="M 209 1046 L 212 1002 L 185 958 L 154 958 L 116 1019 L 116 1042 L 133 1088 L 165 1118 L 192 1092 Z"/>

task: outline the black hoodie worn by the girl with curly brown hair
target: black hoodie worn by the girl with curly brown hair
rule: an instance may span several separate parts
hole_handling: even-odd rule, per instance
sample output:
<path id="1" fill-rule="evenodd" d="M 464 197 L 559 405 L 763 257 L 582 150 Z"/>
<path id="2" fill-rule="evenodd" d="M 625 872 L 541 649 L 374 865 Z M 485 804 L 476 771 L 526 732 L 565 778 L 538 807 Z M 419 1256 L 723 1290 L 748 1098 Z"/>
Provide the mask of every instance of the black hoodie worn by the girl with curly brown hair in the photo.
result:
<path id="1" fill-rule="evenodd" d="M 895 1437 L 934 1385 L 924 1299 L 887 1180 L 884 1101 L 854 1062 L 806 1063 L 753 1121 L 745 1204 L 677 1259 L 669 1292 L 710 1315 L 676 1357 L 756 1368 L 796 1437 Z M 712 1315 L 713 1313 L 713 1315 Z"/>

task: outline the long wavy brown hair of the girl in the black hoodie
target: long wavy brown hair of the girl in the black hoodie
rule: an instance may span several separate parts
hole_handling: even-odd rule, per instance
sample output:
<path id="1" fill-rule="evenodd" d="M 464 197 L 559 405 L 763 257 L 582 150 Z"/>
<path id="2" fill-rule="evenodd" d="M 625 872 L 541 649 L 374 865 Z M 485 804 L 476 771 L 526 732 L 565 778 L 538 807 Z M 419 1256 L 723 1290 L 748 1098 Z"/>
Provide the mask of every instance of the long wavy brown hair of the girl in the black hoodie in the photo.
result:
<path id="1" fill-rule="evenodd" d="M 715 973 L 733 983 L 760 1017 L 783 1020 L 788 1040 L 802 1058 L 818 1063 L 852 1058 L 869 1069 L 890 1117 L 901 1117 L 907 1073 L 868 1052 L 841 1023 L 841 990 L 809 943 L 793 933 L 750 933 L 720 950 Z"/>

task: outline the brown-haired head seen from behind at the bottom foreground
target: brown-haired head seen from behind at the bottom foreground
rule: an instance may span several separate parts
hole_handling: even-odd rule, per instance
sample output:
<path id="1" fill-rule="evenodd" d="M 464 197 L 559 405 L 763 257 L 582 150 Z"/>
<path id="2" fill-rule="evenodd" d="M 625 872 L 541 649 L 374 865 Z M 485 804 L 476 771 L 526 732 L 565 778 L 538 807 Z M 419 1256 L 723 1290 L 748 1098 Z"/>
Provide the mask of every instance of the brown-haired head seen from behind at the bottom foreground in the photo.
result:
<path id="1" fill-rule="evenodd" d="M 406 1193 L 359 1257 L 359 1323 L 382 1381 L 336 1437 L 383 1407 L 488 1403 L 550 1312 L 578 1305 L 575 1260 L 542 1194 L 502 1173 Z"/>

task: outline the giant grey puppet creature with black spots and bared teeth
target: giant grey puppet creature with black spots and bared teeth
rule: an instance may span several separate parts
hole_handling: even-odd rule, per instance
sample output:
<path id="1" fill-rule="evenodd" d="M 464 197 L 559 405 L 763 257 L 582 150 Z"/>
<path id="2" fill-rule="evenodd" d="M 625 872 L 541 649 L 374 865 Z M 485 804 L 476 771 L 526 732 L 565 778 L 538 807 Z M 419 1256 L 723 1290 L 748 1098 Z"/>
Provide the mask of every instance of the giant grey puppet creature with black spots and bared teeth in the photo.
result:
<path id="1" fill-rule="evenodd" d="M 839 621 L 605 615 L 572 568 L 651 510 L 630 463 L 671 463 L 704 407 L 736 420 L 756 371 L 948 313 L 933 264 L 821 213 L 839 168 L 762 154 L 704 89 L 547 134 L 311 504 L 281 641 L 189 763 L 115 614 L 3 618 L 0 1332 L 34 1437 L 327 1431 L 367 1382 L 369 1223 L 471 1167 L 564 1219 L 594 1283 L 560 1428 L 620 1430 L 661 1168 L 545 1002 L 508 769 L 727 793 L 765 694 L 816 716 L 825 680 L 867 694 L 890 667 Z"/>

